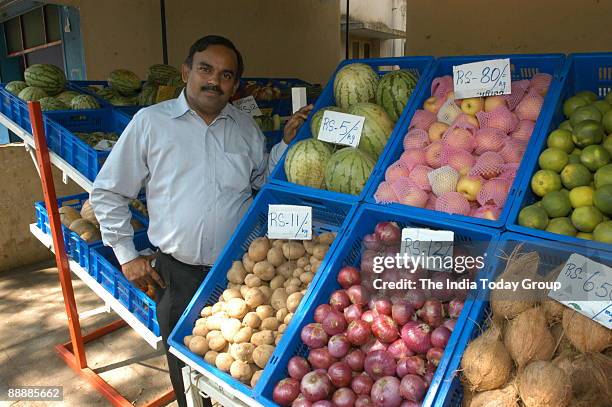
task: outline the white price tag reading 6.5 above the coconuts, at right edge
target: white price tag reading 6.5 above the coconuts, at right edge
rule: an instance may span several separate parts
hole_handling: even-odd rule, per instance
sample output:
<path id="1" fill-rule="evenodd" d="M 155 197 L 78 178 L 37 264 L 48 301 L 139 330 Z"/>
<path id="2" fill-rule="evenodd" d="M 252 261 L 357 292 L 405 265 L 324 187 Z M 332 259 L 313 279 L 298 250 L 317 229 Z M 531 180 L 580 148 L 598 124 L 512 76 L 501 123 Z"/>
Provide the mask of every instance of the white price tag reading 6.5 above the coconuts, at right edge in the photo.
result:
<path id="1" fill-rule="evenodd" d="M 572 254 L 557 277 L 561 289 L 548 296 L 612 329 L 612 268 Z"/>

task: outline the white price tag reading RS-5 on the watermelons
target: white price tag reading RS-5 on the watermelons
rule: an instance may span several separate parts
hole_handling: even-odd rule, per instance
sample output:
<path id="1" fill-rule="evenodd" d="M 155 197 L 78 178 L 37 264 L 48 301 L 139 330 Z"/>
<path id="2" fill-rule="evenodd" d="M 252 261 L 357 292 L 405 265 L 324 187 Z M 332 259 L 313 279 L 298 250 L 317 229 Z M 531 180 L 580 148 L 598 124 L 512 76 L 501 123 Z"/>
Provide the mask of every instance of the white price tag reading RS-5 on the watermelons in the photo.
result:
<path id="1" fill-rule="evenodd" d="M 318 139 L 334 144 L 357 147 L 365 117 L 326 110 L 323 113 Z"/>

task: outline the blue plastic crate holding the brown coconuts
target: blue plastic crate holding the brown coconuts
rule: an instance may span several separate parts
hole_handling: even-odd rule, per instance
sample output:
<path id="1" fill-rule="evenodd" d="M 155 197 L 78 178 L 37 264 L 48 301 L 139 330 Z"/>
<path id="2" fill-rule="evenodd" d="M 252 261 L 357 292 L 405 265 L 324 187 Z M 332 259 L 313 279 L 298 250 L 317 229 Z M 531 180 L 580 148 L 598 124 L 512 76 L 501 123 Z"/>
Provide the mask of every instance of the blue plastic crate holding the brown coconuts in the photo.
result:
<path id="1" fill-rule="evenodd" d="M 565 264 L 573 253 L 580 254 L 593 261 L 612 267 L 611 253 L 601 252 L 579 245 L 553 242 L 551 240 L 513 232 L 505 232 L 500 236 L 495 254 L 502 255 L 504 253 L 511 253 L 512 249 L 521 243 L 523 243 L 521 252 L 528 253 L 537 251 L 540 254 L 540 266 L 538 269 L 540 274 L 548 273 L 559 265 Z M 495 279 L 497 275 L 503 272 L 505 267 L 506 262 L 496 258 L 490 278 Z M 464 321 L 465 323 L 461 327 L 461 337 L 455 346 L 444 379 L 440 384 L 438 396 L 433 404 L 436 407 L 455 407 L 462 405 L 463 385 L 459 379 L 461 358 L 469 342 L 478 337 L 481 329 L 484 329 L 486 326 L 485 319 L 490 313 L 488 299 L 488 290 L 483 290 L 479 293 L 478 298 L 471 307 L 469 318 Z"/>

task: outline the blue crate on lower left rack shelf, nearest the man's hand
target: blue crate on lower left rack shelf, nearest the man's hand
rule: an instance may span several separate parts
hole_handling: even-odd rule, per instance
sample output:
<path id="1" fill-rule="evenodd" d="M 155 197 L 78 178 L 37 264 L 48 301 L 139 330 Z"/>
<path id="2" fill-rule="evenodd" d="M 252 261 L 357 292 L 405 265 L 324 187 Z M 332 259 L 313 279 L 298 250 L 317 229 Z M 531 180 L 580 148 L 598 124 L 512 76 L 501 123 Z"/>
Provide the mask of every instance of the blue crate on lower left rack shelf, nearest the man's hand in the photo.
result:
<path id="1" fill-rule="evenodd" d="M 138 251 L 155 250 L 146 233 L 135 234 L 134 245 Z M 125 278 L 113 249 L 108 246 L 96 246 L 92 249 L 90 274 L 151 332 L 160 334 L 155 301 Z"/>

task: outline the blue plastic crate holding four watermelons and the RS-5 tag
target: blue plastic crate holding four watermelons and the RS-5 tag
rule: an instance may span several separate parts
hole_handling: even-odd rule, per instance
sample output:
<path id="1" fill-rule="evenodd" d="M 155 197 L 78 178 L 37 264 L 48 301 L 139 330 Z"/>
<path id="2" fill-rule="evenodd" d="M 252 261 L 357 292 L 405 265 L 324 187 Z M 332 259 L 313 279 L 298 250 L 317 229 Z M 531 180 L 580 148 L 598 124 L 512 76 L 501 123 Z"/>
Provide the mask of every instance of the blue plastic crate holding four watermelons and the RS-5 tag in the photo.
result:
<path id="1" fill-rule="evenodd" d="M 274 184 L 278 184 L 278 185 L 290 186 L 291 188 L 299 189 L 300 191 L 307 192 L 311 195 L 317 195 L 317 196 L 323 196 L 323 197 L 344 197 L 344 199 L 349 199 L 352 202 L 363 201 L 366 197 L 367 191 L 370 189 L 370 185 L 374 182 L 374 174 L 376 174 L 376 169 L 384 162 L 384 157 L 388 154 L 388 151 L 390 151 L 389 150 L 390 147 L 393 144 L 395 144 L 394 140 L 401 139 L 401 136 L 403 136 L 403 134 L 406 132 L 406 126 L 408 124 L 408 121 L 406 120 L 406 118 L 412 117 L 414 110 L 416 109 L 416 106 L 417 106 L 415 101 L 421 100 L 423 93 L 426 91 L 425 85 L 426 85 L 426 82 L 428 82 L 428 78 L 430 75 L 430 68 L 433 65 L 433 61 L 434 61 L 433 57 L 425 57 L 425 56 L 346 60 L 340 63 L 340 65 L 338 65 L 338 67 L 336 68 L 336 71 L 334 71 L 329 82 L 327 82 L 327 85 L 323 89 L 323 93 L 321 93 L 321 96 L 319 96 L 319 98 L 317 99 L 317 102 L 314 105 L 314 109 L 312 110 L 312 113 L 315 113 L 317 110 L 323 107 L 327 107 L 327 106 L 335 104 L 334 78 L 336 77 L 336 73 L 342 67 L 346 65 L 350 65 L 352 63 L 360 62 L 360 63 L 368 64 L 376 72 L 378 72 L 379 75 L 384 75 L 385 73 L 392 70 L 394 66 L 399 66 L 401 69 L 406 69 L 410 71 L 411 73 L 415 74 L 419 78 L 417 86 L 414 89 L 412 96 L 408 100 L 406 107 L 404 108 L 404 112 L 398 119 L 397 123 L 395 123 L 395 128 L 393 129 L 393 132 L 389 136 L 389 141 L 387 142 L 385 149 L 380 154 L 378 162 L 376 163 L 376 166 L 374 167 L 374 170 L 372 171 L 372 176 L 370 176 L 370 179 L 365 184 L 363 191 L 361 192 L 359 196 L 343 194 L 343 193 L 338 193 L 338 192 L 331 192 L 331 191 L 326 191 L 326 190 L 316 189 L 316 188 L 311 188 L 311 187 L 304 187 L 304 186 L 290 183 L 289 181 L 287 181 L 287 174 L 285 173 L 285 158 L 287 157 L 287 152 L 283 154 L 278 164 L 276 165 L 276 167 L 270 174 L 270 178 L 269 178 L 270 182 Z M 313 114 L 311 114 L 308 117 L 308 120 L 306 120 L 304 125 L 299 129 L 297 136 L 292 141 L 290 147 L 293 146 L 293 144 L 295 144 L 296 142 L 300 140 L 304 140 L 304 139 L 312 137 L 312 134 L 310 132 L 310 121 L 312 120 L 312 116 Z M 289 151 L 289 148 L 287 149 L 287 151 Z"/>

